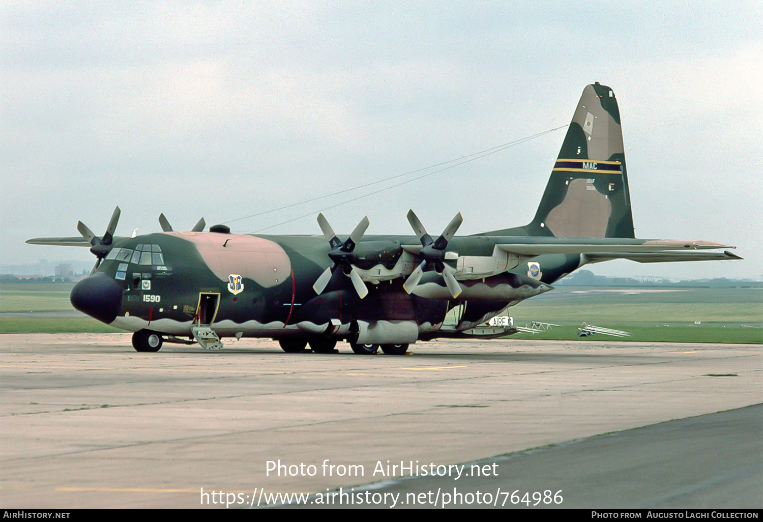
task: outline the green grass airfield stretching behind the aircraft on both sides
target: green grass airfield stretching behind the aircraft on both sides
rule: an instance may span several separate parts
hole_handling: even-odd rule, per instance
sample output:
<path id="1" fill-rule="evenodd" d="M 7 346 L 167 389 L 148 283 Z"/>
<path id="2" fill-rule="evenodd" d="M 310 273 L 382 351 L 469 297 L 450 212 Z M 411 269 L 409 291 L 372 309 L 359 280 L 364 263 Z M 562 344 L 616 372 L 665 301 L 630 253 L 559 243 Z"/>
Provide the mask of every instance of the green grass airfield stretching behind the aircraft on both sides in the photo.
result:
<path id="1" fill-rule="evenodd" d="M 73 283 L 2 282 L 0 312 L 71 311 Z M 511 338 L 581 340 L 583 321 L 626 330 L 620 340 L 694 343 L 763 343 L 763 288 L 560 287 L 510 309 L 514 324 L 559 324 Z M 694 324 L 700 321 L 700 324 Z M 744 324 L 745 326 L 742 326 Z M 0 333 L 120 331 L 89 317 L 0 317 Z M 615 339 L 600 334 L 594 339 Z M 590 337 L 589 337 L 590 339 Z"/>

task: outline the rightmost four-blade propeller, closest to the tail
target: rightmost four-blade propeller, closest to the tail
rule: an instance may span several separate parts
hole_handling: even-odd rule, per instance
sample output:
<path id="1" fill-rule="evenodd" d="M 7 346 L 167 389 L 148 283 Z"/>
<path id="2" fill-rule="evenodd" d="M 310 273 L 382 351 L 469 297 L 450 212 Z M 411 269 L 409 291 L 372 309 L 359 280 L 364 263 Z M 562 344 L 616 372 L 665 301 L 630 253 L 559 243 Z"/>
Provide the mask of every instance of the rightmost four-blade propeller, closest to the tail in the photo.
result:
<path id="1" fill-rule="evenodd" d="M 462 292 L 461 285 L 456 281 L 453 269 L 447 266 L 443 259 L 445 259 L 445 249 L 448 246 L 448 241 L 456 234 L 456 230 L 459 230 L 464 221 L 461 213 L 459 212 L 456 214 L 456 217 L 453 217 L 448 226 L 445 227 L 445 230 L 443 230 L 443 234 L 440 234 L 436 240 L 432 240 L 432 237 L 427 234 L 427 230 L 424 229 L 423 224 L 414 214 L 414 211 L 408 211 L 407 217 L 408 223 L 414 228 L 414 232 L 419 238 L 421 246 L 423 246 L 419 253 L 419 256 L 423 257 L 423 261 L 403 283 L 404 290 L 410 294 L 416 285 L 419 284 L 423 272 L 434 270 L 439 274 L 443 274 L 443 279 L 445 279 L 445 284 L 450 291 L 450 295 L 457 298 Z"/>

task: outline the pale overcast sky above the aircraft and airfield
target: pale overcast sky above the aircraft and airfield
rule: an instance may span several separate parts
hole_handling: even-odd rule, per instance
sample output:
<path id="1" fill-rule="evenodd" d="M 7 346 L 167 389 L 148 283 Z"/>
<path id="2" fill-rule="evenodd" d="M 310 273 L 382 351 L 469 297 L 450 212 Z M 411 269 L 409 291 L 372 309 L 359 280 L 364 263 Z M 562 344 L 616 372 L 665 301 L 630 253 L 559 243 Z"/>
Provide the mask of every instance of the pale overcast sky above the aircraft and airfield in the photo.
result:
<path id="1" fill-rule="evenodd" d="M 636 236 L 745 260 L 591 269 L 757 279 L 761 2 L 654 4 L 4 1 L 0 263 L 94 261 L 24 240 L 102 234 L 116 205 L 117 235 L 160 212 L 271 234 L 320 234 L 327 208 L 340 235 L 365 214 L 367 234 L 410 234 L 409 208 L 431 234 L 459 211 L 459 234 L 526 224 L 565 129 L 240 218 L 568 124 L 598 81 L 620 103 Z"/>

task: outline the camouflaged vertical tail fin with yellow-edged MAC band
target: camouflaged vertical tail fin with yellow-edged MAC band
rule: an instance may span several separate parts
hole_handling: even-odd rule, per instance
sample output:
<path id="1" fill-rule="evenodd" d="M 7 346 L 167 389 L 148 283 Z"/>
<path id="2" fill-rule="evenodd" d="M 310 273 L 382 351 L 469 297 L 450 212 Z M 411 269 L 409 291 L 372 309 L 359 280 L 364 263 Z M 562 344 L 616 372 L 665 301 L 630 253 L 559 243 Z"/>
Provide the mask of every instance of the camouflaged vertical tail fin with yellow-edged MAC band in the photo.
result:
<path id="1" fill-rule="evenodd" d="M 635 237 L 617 98 L 588 85 L 530 224 L 530 236 Z"/>

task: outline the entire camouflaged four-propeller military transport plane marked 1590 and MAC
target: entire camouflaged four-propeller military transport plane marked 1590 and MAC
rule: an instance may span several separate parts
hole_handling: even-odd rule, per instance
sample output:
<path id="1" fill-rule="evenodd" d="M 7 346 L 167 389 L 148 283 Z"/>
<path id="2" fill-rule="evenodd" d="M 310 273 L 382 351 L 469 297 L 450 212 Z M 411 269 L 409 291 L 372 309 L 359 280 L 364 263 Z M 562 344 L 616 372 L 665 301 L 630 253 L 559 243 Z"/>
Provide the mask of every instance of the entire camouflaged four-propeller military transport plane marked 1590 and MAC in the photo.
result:
<path id="1" fill-rule="evenodd" d="M 710 241 L 636 239 L 620 111 L 612 89 L 588 85 L 568 127 L 533 221 L 523 227 L 456 237 L 461 214 L 433 239 L 414 211 L 414 236 L 365 236 L 364 217 L 346 240 L 319 214 L 320 236 L 204 232 L 114 237 L 116 208 L 102 237 L 28 240 L 90 246 L 92 274 L 71 301 L 98 321 L 133 331 L 139 352 L 163 341 L 219 349 L 221 337 L 270 337 L 286 352 L 307 343 L 333 352 L 347 340 L 355 353 L 406 353 L 417 340 L 497 337 L 485 327 L 507 307 L 552 290 L 551 283 L 588 263 L 741 259 Z M 446 316 L 455 317 L 444 324 Z M 482 325 L 482 326 L 481 326 Z"/>

